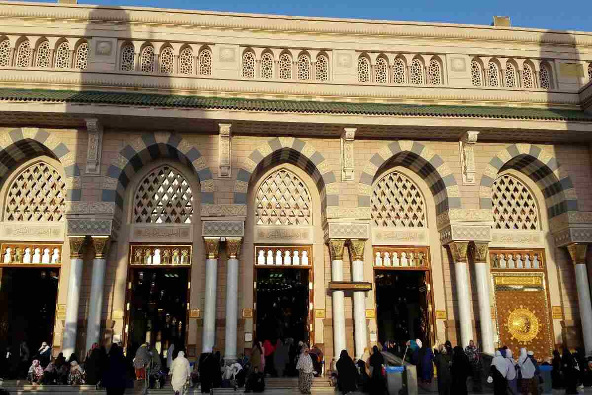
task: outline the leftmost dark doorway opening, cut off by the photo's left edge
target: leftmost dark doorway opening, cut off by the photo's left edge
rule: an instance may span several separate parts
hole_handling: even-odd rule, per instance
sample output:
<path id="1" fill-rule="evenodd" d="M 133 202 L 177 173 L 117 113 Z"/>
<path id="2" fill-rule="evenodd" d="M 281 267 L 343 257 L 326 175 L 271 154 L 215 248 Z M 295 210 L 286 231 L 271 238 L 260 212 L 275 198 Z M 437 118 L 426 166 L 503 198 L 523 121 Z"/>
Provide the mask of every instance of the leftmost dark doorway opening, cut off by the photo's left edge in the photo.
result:
<path id="1" fill-rule="evenodd" d="M 17 353 L 26 341 L 30 357 L 52 344 L 59 268 L 0 268 L 0 346 Z"/>

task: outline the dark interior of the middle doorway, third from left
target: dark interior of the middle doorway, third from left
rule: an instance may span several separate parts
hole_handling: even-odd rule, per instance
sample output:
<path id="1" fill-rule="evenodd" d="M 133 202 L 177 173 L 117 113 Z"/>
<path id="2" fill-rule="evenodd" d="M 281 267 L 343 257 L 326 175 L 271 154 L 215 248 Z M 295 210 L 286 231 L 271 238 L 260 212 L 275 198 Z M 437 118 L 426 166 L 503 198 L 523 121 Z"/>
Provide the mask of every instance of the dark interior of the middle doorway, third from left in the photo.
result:
<path id="1" fill-rule="evenodd" d="M 308 269 L 257 269 L 256 336 L 308 343 Z"/>

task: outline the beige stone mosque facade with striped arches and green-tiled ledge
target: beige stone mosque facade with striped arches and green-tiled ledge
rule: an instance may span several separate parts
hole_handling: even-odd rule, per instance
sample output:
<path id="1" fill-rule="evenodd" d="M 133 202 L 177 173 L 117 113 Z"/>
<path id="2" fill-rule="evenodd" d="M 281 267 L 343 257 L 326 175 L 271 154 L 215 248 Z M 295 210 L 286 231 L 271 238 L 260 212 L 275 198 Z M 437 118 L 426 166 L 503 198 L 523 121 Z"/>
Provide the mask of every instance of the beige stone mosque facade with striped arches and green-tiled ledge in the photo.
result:
<path id="1" fill-rule="evenodd" d="M 256 247 L 305 245 L 312 251 L 311 336 L 327 358 L 339 354 L 329 291 L 335 239 L 368 240 L 363 280 L 372 284 L 376 266 L 387 266 L 384 255 L 378 265 L 375 247 L 428 248 L 432 339 L 452 343 L 461 342 L 464 309 L 455 275 L 463 258 L 453 249 L 485 243 L 511 259 L 521 253 L 520 262 L 534 259 L 525 251 L 538 251 L 541 266 L 510 265 L 504 256 L 507 266 L 494 268 L 490 252 L 484 255 L 493 341 L 501 342 L 504 323 L 492 272 L 519 272 L 544 279 L 547 324 L 540 325 L 552 346 L 579 345 L 586 313 L 574 264 L 585 264 L 585 248 L 578 261 L 567 246 L 592 242 L 591 78 L 592 33 L 1 2 L 0 242 L 45 241 L 39 229 L 62 226 L 50 241 L 63 243 L 57 304 L 70 309 L 68 237 L 86 236 L 79 352 L 97 257 L 90 236 L 110 236 L 99 304 L 105 339 L 126 336 L 130 245 L 174 242 L 192 247 L 189 355 L 201 352 L 208 325 L 206 258 L 218 262 L 214 339 L 224 354 L 230 242 L 215 253 L 204 237 L 239 237 L 239 352 L 250 349 L 245 334 L 255 330 Z M 63 217 L 10 217 L 28 210 L 11 208 L 11 185 L 39 162 L 63 179 Z M 134 212 L 140 184 L 162 166 L 191 189 L 190 220 L 170 214 L 170 223 L 147 223 Z M 310 207 L 265 222 L 258 192 L 282 170 L 300 180 L 292 191 L 310 198 Z M 381 181 L 391 174 L 402 178 Z M 401 185 L 417 189 L 417 201 L 404 207 L 417 217 L 379 220 L 382 210 L 401 206 L 388 208 L 378 194 Z M 8 234 L 14 222 L 24 236 Z M 345 249 L 342 281 L 351 282 L 349 242 Z M 465 326 L 482 341 L 479 254 L 464 253 Z M 590 289 L 579 291 L 588 293 L 589 309 Z M 374 291 L 364 304 L 372 345 Z M 353 306 L 346 292 L 352 352 Z M 56 352 L 65 325 L 65 317 L 56 319 Z"/>

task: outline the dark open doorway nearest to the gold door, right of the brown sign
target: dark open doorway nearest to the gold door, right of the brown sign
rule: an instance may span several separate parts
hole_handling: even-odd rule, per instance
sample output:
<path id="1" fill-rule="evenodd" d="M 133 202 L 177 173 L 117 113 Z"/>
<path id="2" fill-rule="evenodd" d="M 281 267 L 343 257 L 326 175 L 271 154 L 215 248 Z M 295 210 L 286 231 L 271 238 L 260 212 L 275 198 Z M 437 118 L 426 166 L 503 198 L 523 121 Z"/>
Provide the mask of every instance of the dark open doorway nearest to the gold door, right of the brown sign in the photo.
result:
<path id="1" fill-rule="evenodd" d="M 396 343 L 397 353 L 410 339 L 429 342 L 425 275 L 411 270 L 374 272 L 378 341 Z"/>

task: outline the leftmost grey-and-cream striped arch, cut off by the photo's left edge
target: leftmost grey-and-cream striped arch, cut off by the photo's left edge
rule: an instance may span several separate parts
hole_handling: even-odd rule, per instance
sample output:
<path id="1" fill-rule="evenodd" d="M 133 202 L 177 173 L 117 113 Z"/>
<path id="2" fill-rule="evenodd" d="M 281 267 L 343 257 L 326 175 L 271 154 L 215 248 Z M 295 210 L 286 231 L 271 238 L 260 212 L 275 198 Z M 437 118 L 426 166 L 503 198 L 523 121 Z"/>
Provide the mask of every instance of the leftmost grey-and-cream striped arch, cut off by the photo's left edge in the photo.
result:
<path id="1" fill-rule="evenodd" d="M 69 201 L 80 201 L 81 172 L 76 155 L 53 134 L 36 127 L 22 127 L 0 136 L 0 185 L 9 172 L 23 160 L 47 155 L 62 164 L 66 175 L 66 196 Z"/>

